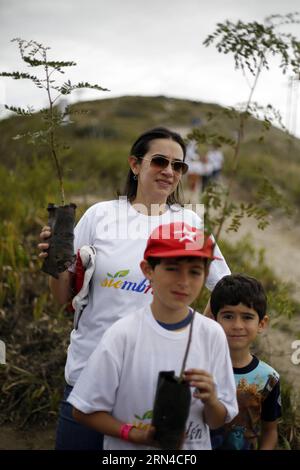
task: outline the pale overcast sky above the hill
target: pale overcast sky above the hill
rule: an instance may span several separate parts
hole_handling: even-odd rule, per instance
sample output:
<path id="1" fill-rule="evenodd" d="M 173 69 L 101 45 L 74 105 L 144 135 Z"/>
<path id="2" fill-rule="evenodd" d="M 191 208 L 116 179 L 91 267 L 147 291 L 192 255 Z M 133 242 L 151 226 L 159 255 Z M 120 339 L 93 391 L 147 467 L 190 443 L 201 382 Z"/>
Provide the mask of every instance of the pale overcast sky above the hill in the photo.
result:
<path id="1" fill-rule="evenodd" d="M 203 40 L 225 19 L 263 21 L 297 10 L 299 0 L 0 0 L 0 70 L 26 70 L 10 40 L 34 39 L 50 46 L 54 59 L 77 62 L 66 78 L 111 90 L 77 93 L 74 100 L 166 95 L 233 106 L 247 99 L 249 85 L 231 57 L 205 48 Z M 300 25 L 290 31 L 300 39 Z M 274 63 L 254 99 L 278 108 L 290 130 L 298 122 L 300 136 L 296 93 L 294 118 L 286 114 L 287 84 Z M 38 108 L 46 99 L 27 80 L 1 78 L 3 103 Z"/>

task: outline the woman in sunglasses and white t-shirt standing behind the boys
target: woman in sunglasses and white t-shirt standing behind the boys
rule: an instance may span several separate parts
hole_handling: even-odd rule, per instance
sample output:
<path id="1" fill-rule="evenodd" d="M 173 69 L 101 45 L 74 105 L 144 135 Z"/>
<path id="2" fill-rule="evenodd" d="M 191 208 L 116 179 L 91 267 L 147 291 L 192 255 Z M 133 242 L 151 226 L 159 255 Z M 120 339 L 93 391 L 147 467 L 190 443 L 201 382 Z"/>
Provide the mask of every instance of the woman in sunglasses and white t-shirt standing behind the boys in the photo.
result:
<path id="1" fill-rule="evenodd" d="M 93 205 L 75 228 L 76 252 L 83 245 L 92 245 L 96 260 L 88 304 L 77 329 L 71 333 L 57 449 L 101 448 L 102 436 L 73 420 L 66 399 L 103 333 L 123 316 L 124 307 L 128 311 L 130 306 L 142 307 L 151 302 L 151 286 L 139 267 L 150 233 L 158 225 L 175 221 L 184 220 L 191 226 L 202 224 L 195 212 L 180 205 L 179 184 L 188 169 L 185 152 L 180 135 L 168 129 L 155 128 L 142 134 L 128 158 L 130 170 L 125 197 Z M 49 227 L 44 227 L 40 249 L 48 248 L 45 240 L 49 236 Z M 215 255 L 221 256 L 218 247 L 215 250 Z M 47 254 L 39 256 L 43 258 Z M 206 286 L 212 289 L 229 273 L 224 259 L 212 262 Z M 65 271 L 58 280 L 50 279 L 52 293 L 62 304 L 71 298 L 71 277 L 71 272 Z"/>

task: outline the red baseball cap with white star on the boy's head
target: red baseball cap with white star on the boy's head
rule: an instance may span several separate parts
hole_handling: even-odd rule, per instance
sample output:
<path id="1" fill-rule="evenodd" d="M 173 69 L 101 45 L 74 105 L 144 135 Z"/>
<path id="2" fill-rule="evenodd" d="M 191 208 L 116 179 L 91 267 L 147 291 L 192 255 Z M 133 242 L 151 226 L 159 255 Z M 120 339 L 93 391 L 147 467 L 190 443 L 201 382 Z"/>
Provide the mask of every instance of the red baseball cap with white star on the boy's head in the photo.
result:
<path id="1" fill-rule="evenodd" d="M 213 255 L 215 243 L 202 230 L 184 222 L 160 225 L 151 233 L 144 259 L 177 258 L 194 256 L 198 258 L 221 259 Z"/>

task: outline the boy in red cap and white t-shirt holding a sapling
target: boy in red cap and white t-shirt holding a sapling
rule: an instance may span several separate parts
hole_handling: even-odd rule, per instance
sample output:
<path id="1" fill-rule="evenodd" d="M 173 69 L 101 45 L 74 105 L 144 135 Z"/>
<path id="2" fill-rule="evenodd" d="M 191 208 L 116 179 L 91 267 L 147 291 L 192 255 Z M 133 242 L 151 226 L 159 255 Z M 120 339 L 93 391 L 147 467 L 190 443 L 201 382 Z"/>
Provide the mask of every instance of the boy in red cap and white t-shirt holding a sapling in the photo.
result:
<path id="1" fill-rule="evenodd" d="M 153 289 L 151 306 L 105 333 L 68 398 L 78 421 L 105 434 L 105 449 L 157 447 L 151 418 L 158 373 L 179 375 L 193 317 L 189 305 L 213 249 L 210 238 L 203 244 L 203 234 L 183 222 L 151 234 L 141 262 Z M 203 315 L 194 317 L 184 379 L 194 393 L 183 448 L 211 449 L 209 427 L 222 426 L 238 409 L 225 334 Z"/>

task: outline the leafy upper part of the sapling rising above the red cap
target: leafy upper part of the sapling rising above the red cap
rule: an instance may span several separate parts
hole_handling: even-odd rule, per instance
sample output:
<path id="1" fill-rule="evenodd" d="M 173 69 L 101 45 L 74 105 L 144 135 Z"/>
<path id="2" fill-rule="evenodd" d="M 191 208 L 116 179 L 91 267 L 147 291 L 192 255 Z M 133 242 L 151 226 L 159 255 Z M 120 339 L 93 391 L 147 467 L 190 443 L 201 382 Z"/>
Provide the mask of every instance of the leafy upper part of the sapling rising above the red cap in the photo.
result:
<path id="1" fill-rule="evenodd" d="M 249 94 L 245 103 L 236 108 L 225 109 L 221 118 L 228 118 L 236 126 L 236 135 L 232 137 L 220 135 L 216 132 L 206 132 L 195 129 L 189 138 L 199 143 L 229 145 L 232 148 L 232 165 L 226 187 L 220 185 L 210 186 L 204 194 L 203 203 L 206 207 L 206 226 L 215 234 L 218 240 L 225 221 L 231 218 L 229 230 L 237 231 L 244 216 L 253 216 L 258 221 L 258 227 L 263 229 L 269 223 L 266 202 L 275 207 L 287 209 L 281 195 L 274 186 L 262 175 L 260 187 L 257 188 L 256 200 L 239 205 L 231 201 L 231 193 L 237 178 L 239 161 L 241 159 L 241 146 L 249 117 L 261 118 L 262 129 L 265 132 L 272 124 L 279 124 L 284 128 L 280 113 L 271 104 L 262 107 L 253 100 L 255 90 L 261 73 L 270 67 L 271 58 L 280 61 L 279 68 L 282 73 L 291 72 L 300 76 L 300 41 L 292 34 L 282 32 L 280 27 L 299 23 L 299 13 L 287 15 L 272 15 L 264 23 L 257 21 L 245 23 L 241 20 L 233 23 L 224 21 L 218 23 L 215 31 L 204 41 L 205 46 L 215 45 L 221 54 L 231 54 L 235 68 L 241 70 L 249 85 Z M 208 116 L 212 122 L 216 116 Z M 233 126 L 232 126 L 233 127 Z M 262 140 L 260 136 L 259 141 Z M 214 217 L 211 217 L 213 209 Z"/>

